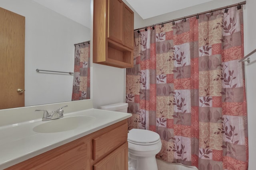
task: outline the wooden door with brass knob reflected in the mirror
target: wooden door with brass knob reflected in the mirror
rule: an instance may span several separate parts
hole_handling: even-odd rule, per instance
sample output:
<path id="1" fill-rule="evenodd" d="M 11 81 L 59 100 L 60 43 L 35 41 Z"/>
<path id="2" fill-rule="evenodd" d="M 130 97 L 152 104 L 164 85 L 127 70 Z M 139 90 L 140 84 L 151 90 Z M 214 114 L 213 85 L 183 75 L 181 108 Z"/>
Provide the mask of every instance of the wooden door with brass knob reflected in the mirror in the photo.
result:
<path id="1" fill-rule="evenodd" d="M 0 109 L 23 107 L 25 17 L 0 8 Z"/>

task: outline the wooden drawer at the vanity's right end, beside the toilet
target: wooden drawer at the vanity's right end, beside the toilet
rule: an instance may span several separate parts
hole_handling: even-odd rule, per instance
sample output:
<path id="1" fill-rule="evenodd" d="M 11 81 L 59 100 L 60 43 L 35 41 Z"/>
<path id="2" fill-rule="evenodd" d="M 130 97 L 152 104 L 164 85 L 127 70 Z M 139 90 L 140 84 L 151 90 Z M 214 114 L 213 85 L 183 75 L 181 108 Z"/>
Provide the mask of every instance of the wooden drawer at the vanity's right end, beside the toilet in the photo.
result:
<path id="1" fill-rule="evenodd" d="M 97 160 L 127 141 L 128 123 L 92 139 L 93 160 Z"/>

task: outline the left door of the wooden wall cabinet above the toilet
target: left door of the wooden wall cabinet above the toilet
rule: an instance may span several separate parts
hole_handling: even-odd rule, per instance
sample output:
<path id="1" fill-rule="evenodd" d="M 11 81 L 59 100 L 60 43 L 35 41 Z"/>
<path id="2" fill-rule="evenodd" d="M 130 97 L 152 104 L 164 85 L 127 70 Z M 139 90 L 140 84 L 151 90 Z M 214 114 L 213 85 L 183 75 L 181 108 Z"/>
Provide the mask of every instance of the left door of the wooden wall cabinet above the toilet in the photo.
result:
<path id="1" fill-rule="evenodd" d="M 123 43 L 122 0 L 108 0 L 108 38 Z"/>

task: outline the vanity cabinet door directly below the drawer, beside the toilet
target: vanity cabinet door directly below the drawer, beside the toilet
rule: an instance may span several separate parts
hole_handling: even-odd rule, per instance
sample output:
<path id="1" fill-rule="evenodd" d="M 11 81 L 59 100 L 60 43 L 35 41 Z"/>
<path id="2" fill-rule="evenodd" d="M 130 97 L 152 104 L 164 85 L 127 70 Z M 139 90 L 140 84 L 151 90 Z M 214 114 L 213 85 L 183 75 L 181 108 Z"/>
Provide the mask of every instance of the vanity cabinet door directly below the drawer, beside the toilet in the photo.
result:
<path id="1" fill-rule="evenodd" d="M 94 170 L 128 170 L 128 142 L 94 164 Z"/>

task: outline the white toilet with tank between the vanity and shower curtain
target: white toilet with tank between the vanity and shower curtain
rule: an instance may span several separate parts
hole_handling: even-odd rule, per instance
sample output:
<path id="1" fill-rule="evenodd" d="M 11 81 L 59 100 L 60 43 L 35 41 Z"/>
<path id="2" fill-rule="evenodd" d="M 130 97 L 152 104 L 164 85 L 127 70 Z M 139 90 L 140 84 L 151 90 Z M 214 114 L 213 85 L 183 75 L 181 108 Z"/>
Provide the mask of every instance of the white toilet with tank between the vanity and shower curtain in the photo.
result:
<path id="1" fill-rule="evenodd" d="M 100 109 L 127 113 L 127 103 L 101 106 Z M 128 133 L 129 170 L 157 170 L 156 154 L 162 148 L 160 136 L 144 129 L 131 129 Z"/>

